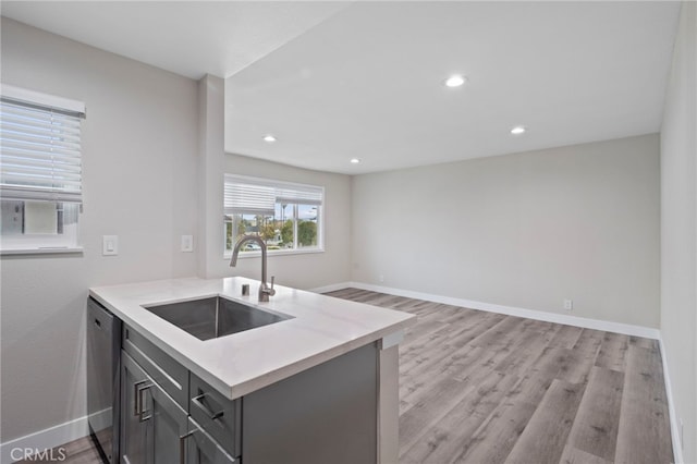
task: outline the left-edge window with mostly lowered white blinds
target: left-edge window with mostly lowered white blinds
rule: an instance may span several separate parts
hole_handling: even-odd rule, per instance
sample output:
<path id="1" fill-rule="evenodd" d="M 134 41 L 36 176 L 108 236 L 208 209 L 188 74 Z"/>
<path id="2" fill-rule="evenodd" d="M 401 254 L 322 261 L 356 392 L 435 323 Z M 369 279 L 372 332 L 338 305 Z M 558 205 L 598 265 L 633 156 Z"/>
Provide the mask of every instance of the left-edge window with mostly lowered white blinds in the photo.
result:
<path id="1" fill-rule="evenodd" d="M 82 102 L 2 85 L 0 251 L 75 249 Z"/>

